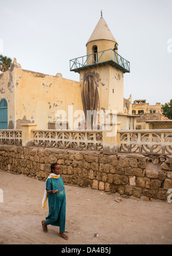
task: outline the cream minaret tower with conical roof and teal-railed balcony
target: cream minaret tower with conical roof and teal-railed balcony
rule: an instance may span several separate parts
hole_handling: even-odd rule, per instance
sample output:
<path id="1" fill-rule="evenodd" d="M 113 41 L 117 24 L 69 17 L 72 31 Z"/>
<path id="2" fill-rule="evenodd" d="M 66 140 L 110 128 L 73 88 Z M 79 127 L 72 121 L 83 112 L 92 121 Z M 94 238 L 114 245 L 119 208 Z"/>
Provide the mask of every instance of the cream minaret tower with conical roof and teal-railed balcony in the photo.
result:
<path id="1" fill-rule="evenodd" d="M 87 56 L 72 59 L 71 71 L 80 74 L 80 81 L 92 75 L 99 82 L 100 109 L 124 114 L 123 74 L 130 72 L 130 62 L 118 54 L 118 42 L 112 35 L 102 12 L 86 44 Z"/>

